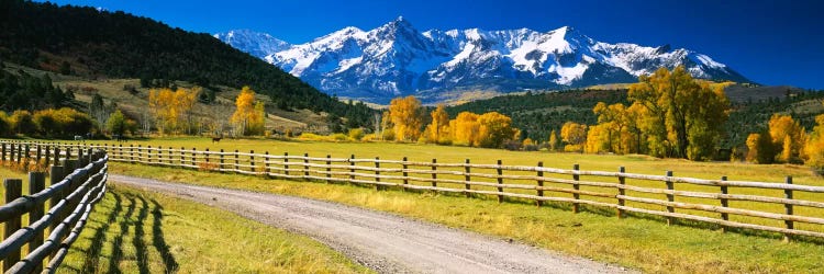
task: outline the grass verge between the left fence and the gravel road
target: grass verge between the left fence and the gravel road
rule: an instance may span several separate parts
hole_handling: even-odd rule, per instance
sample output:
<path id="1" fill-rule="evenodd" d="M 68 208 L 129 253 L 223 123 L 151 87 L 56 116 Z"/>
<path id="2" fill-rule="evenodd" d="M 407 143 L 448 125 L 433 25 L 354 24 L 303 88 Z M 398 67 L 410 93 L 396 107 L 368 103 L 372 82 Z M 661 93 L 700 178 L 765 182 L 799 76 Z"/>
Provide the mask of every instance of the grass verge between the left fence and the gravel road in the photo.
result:
<path id="1" fill-rule="evenodd" d="M 27 193 L 25 174 L 0 168 L 0 178 L 23 179 L 23 192 Z M 29 224 L 27 215 L 23 224 Z M 23 252 L 26 250 L 24 247 Z M 308 237 L 193 202 L 110 184 L 57 272 L 370 271 Z"/>

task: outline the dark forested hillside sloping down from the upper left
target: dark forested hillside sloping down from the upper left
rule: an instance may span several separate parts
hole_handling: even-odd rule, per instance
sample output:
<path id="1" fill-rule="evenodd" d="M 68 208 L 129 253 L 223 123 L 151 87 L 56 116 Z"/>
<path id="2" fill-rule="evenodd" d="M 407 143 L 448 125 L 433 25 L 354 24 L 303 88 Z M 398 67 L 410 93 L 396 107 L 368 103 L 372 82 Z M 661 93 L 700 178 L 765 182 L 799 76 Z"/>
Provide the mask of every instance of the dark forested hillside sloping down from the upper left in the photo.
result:
<path id="1" fill-rule="evenodd" d="M 370 116 L 366 106 L 342 103 L 209 34 L 123 12 L 0 1 L 0 60 L 90 80 L 166 79 L 208 89 L 248 84 L 282 110 L 327 112 L 356 125 Z"/>

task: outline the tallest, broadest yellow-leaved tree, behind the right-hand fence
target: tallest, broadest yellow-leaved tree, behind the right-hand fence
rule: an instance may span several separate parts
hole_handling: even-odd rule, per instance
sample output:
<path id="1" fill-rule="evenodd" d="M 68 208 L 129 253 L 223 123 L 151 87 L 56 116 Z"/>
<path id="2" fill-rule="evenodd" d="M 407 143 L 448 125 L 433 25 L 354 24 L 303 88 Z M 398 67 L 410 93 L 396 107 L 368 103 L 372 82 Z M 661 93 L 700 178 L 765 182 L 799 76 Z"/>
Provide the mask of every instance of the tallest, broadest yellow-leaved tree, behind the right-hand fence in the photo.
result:
<path id="1" fill-rule="evenodd" d="M 630 87 L 628 98 L 646 109 L 638 124 L 647 136 L 649 153 L 710 159 L 728 116 L 723 88 L 695 81 L 683 66 L 639 77 Z"/>

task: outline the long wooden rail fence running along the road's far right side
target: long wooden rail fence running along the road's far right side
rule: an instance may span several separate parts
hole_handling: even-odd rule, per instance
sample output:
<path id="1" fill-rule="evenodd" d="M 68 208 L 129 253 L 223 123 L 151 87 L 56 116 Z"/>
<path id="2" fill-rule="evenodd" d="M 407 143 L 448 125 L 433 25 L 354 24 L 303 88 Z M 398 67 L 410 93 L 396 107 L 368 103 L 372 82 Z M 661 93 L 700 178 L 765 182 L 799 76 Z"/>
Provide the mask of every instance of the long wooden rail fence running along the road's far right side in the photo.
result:
<path id="1" fill-rule="evenodd" d="M 35 144 L 29 144 L 35 146 Z M 784 182 L 728 181 L 530 165 L 270 155 L 268 151 L 210 151 L 196 148 L 123 145 L 43 145 L 67 151 L 101 148 L 112 161 L 290 180 L 314 180 L 394 187 L 469 196 L 492 196 L 498 202 L 534 201 L 568 206 L 575 213 L 612 210 L 658 216 L 668 225 L 678 221 L 714 224 L 730 228 L 824 238 L 824 186 Z M 610 213 L 610 214 L 612 214 Z"/>

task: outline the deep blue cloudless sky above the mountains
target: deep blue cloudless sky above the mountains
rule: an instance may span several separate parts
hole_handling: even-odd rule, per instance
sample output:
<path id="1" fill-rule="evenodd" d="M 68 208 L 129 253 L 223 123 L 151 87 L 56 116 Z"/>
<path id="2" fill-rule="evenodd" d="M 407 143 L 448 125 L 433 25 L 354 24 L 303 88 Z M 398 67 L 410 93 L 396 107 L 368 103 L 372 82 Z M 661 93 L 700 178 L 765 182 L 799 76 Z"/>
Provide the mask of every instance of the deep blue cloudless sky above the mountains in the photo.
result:
<path id="1" fill-rule="evenodd" d="M 421 31 L 569 25 L 602 42 L 670 44 L 706 54 L 750 80 L 824 89 L 824 1 L 554 0 L 58 0 L 147 16 L 193 32 L 266 32 L 299 44 L 399 15 Z"/>

